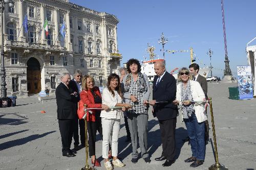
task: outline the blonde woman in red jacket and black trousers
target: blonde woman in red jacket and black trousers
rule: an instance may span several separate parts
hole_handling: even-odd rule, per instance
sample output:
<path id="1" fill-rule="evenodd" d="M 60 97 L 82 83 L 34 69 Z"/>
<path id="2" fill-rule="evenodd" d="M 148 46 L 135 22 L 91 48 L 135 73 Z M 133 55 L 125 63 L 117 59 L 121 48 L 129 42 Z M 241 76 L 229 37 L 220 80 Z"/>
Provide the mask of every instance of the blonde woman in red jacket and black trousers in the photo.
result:
<path id="1" fill-rule="evenodd" d="M 80 99 L 88 108 L 103 108 L 108 110 L 109 107 L 101 104 L 101 95 L 99 87 L 94 86 L 94 79 L 91 76 L 85 76 L 82 79 L 82 91 L 80 92 Z M 100 110 L 92 110 L 92 114 L 87 114 L 87 130 L 89 134 L 89 155 L 92 157 L 92 164 L 100 166 L 100 163 L 95 156 L 95 142 L 96 132 L 100 133 L 102 137 L 102 126 L 100 118 Z"/>

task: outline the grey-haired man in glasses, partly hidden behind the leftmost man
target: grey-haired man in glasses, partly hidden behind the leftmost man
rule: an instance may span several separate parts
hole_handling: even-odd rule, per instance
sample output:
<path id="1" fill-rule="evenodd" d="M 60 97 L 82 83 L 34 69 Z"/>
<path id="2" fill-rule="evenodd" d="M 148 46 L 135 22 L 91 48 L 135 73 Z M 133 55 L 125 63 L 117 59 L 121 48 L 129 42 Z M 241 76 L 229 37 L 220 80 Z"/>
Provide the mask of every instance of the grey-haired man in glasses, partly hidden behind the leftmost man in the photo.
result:
<path id="1" fill-rule="evenodd" d="M 77 93 L 78 98 L 80 100 L 80 92 L 82 91 L 82 71 L 77 69 L 74 73 L 74 79 L 72 79 L 69 83 L 69 86 Z M 78 135 L 78 124 L 80 128 L 80 141 L 81 141 L 81 147 L 79 147 L 79 135 Z M 85 130 L 84 130 L 84 119 L 77 119 L 75 121 L 75 127 L 74 127 L 74 150 L 79 150 L 80 148 L 83 148 L 85 146 Z"/>

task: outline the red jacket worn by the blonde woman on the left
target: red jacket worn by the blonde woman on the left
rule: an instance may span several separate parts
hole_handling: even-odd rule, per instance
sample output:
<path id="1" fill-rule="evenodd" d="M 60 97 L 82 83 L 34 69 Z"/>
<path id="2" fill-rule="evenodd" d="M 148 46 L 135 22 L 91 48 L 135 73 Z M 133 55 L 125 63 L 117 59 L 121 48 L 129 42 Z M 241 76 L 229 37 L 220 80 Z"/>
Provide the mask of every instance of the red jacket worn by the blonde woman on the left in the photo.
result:
<path id="1" fill-rule="evenodd" d="M 101 98 L 99 87 L 93 87 L 92 89 L 96 95 L 98 95 Z M 94 96 L 91 90 L 82 90 L 80 93 L 80 99 L 83 104 L 87 104 L 88 108 L 101 108 L 101 104 L 95 104 L 94 102 Z M 95 114 L 100 114 L 96 112 L 96 110 L 91 110 L 92 114 L 87 114 L 87 121 L 95 122 Z M 100 111 L 100 110 L 97 110 Z"/>

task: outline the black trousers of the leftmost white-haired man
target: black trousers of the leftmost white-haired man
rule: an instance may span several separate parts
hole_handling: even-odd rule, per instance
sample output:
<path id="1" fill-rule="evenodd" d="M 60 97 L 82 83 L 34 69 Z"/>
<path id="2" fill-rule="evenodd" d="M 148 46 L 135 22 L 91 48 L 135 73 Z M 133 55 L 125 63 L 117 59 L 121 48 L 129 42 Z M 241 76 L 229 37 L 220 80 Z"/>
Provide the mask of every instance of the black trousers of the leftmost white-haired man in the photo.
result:
<path id="1" fill-rule="evenodd" d="M 70 152 L 75 119 L 59 119 L 58 123 L 62 143 L 62 153 Z"/>

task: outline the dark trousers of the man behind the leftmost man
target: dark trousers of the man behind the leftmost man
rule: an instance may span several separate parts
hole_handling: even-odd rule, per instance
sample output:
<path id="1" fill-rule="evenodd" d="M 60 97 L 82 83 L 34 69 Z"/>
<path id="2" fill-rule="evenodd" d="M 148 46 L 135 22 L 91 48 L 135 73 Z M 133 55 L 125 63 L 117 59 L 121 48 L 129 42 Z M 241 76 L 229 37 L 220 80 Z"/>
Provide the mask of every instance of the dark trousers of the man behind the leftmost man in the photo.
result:
<path id="1" fill-rule="evenodd" d="M 75 120 L 75 126 L 74 126 L 74 133 L 73 133 L 73 138 L 74 138 L 74 145 L 79 145 L 79 136 L 78 136 L 78 124 L 79 124 L 79 128 L 80 128 L 80 142 L 81 145 L 84 145 L 85 140 L 86 140 L 86 136 L 85 136 L 85 123 L 84 123 L 84 119 L 76 119 Z"/>

